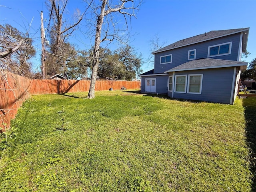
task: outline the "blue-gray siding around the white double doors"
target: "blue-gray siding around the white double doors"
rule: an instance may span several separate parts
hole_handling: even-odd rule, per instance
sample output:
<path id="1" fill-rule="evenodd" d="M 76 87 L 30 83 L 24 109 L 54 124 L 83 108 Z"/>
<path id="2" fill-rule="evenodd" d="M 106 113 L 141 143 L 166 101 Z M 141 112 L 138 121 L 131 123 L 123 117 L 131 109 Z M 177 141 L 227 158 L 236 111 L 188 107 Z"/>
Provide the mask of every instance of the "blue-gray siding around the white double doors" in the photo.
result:
<path id="1" fill-rule="evenodd" d="M 168 91 L 168 74 L 167 75 L 158 75 L 158 76 L 142 76 L 141 77 L 141 92 L 145 91 L 145 80 L 148 78 L 156 78 L 156 93 L 167 94 Z"/>

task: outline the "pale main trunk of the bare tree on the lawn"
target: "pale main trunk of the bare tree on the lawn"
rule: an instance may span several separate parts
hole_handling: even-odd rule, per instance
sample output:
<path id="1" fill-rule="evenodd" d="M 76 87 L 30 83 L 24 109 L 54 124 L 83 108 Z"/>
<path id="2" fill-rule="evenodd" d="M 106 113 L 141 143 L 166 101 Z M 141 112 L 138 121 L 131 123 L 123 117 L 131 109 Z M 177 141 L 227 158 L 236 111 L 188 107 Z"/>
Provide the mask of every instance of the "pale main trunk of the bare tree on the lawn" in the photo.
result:
<path id="1" fill-rule="evenodd" d="M 94 51 L 93 51 L 93 62 L 92 62 L 92 76 L 91 76 L 91 84 L 87 98 L 93 99 L 95 98 L 95 85 L 96 85 L 96 76 L 98 72 L 99 66 L 99 49 L 100 49 L 100 34 L 102 29 L 102 24 L 105 15 L 105 8 L 106 8 L 107 0 L 102 1 L 101 12 L 98 16 L 97 25 L 96 25 L 96 35 L 95 35 L 95 43 L 94 43 Z"/>

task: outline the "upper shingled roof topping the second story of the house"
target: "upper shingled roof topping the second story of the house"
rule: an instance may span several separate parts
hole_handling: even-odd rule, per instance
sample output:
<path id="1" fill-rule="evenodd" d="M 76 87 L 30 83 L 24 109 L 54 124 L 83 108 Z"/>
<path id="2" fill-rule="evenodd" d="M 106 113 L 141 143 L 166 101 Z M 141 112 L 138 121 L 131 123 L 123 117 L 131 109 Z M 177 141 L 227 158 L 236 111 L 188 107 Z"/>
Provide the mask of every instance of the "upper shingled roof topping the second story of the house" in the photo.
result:
<path id="1" fill-rule="evenodd" d="M 232 34 L 236 34 L 239 32 L 243 32 L 243 38 L 242 38 L 242 52 L 246 51 L 247 46 L 247 40 L 248 40 L 248 33 L 250 28 L 239 28 L 239 29 L 229 29 L 229 30 L 218 30 L 218 31 L 210 31 L 208 33 L 200 34 L 197 36 L 193 36 L 190 38 L 186 38 L 180 41 L 177 41 L 175 43 L 172 43 L 164 48 L 161 48 L 157 51 L 152 52 L 152 54 L 156 54 L 162 51 L 167 51 L 171 49 L 176 49 L 178 47 L 187 46 L 215 38 L 220 38 L 222 36 L 228 36 Z"/>

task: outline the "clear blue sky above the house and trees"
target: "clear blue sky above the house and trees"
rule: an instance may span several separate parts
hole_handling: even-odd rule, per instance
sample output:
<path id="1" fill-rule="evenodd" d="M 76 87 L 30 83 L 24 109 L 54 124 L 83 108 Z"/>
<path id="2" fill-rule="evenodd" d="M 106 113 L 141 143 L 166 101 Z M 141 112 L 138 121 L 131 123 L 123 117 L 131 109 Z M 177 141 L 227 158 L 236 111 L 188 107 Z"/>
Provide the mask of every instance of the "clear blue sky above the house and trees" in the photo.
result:
<path id="1" fill-rule="evenodd" d="M 136 0 L 135 0 L 136 1 Z M 45 0 L 0 0 L 0 24 L 8 23 L 25 32 L 31 23 L 30 32 L 35 38 L 34 47 L 40 50 L 40 12 L 48 18 Z M 70 0 L 68 10 L 84 10 L 82 0 Z M 203 34 L 211 30 L 225 30 L 250 27 L 247 50 L 251 53 L 246 62 L 256 58 L 256 0 L 144 0 L 137 18 L 130 26 L 133 36 L 130 44 L 146 60 L 150 56 L 150 40 L 156 34 L 165 45 L 178 40 Z M 83 21 L 82 21 L 83 23 Z M 89 49 L 82 34 L 73 38 L 80 49 Z M 83 42 L 83 43 L 82 43 Z M 114 47 L 114 45 L 111 45 Z M 32 60 L 34 69 L 40 65 L 38 58 Z M 142 66 L 144 72 L 152 64 Z"/>

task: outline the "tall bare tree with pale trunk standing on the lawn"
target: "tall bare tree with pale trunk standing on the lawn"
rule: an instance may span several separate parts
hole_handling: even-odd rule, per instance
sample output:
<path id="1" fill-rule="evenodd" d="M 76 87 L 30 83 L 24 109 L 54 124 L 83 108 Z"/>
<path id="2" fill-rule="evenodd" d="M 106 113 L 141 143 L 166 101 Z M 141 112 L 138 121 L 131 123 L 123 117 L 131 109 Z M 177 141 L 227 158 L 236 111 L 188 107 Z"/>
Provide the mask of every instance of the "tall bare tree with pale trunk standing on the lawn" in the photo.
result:
<path id="1" fill-rule="evenodd" d="M 93 26 L 93 33 L 95 34 L 94 46 L 92 50 L 92 76 L 91 84 L 87 98 L 95 97 L 96 76 L 99 66 L 100 58 L 100 44 L 104 41 L 112 42 L 118 40 L 124 42 L 128 30 L 128 18 L 136 16 L 136 11 L 139 10 L 142 3 L 141 0 L 100 0 L 98 4 L 90 0 L 85 1 L 88 8 L 91 10 L 91 24 Z M 137 2 L 137 4 L 135 4 Z M 119 15 L 123 16 L 124 28 L 120 26 Z M 92 31 L 90 34 L 93 34 Z"/>

